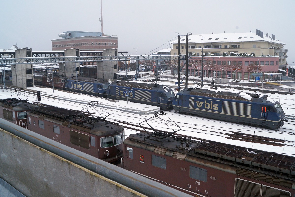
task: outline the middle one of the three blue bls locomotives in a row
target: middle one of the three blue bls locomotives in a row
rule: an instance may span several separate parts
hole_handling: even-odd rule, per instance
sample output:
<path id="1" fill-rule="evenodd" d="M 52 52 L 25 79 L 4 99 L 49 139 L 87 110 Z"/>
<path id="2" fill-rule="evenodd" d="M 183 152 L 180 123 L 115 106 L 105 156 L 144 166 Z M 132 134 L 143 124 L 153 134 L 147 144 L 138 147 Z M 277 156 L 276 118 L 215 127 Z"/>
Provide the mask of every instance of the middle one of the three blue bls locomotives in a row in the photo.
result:
<path id="1" fill-rule="evenodd" d="M 175 96 L 170 87 L 154 83 L 115 81 L 106 90 L 110 99 L 127 100 L 146 105 L 158 106 L 163 110 L 172 109 Z"/>

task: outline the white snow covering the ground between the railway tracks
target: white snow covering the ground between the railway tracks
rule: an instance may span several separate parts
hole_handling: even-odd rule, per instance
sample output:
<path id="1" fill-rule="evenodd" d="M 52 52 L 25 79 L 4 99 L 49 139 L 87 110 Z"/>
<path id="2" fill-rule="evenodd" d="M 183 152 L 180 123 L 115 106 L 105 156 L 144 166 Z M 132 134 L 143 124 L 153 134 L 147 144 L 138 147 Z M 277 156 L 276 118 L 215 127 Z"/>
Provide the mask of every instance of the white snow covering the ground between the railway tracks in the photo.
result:
<path id="1" fill-rule="evenodd" d="M 167 84 L 162 83 L 160 84 Z M 169 84 L 167 84 L 169 85 Z M 196 87 L 196 85 L 191 86 Z M 208 86 L 204 86 L 204 88 L 209 88 Z M 153 114 L 148 115 L 138 115 L 134 112 L 132 112 L 132 109 L 152 109 L 155 111 L 158 111 L 159 108 L 150 106 L 150 105 L 142 105 L 138 103 L 132 103 L 129 102 L 127 104 L 127 101 L 109 101 L 103 98 L 93 97 L 89 95 L 83 95 L 83 94 L 74 94 L 74 93 L 68 93 L 63 92 L 59 90 L 54 90 L 54 93 L 52 92 L 52 89 L 50 88 L 30 88 L 34 90 L 39 90 L 44 94 L 52 95 L 53 97 L 56 96 L 63 96 L 68 97 L 69 100 L 81 100 L 84 102 L 89 101 L 99 101 L 101 103 L 105 104 L 112 104 L 115 107 L 112 109 L 107 109 L 107 111 L 110 113 L 108 116 L 109 121 L 125 121 L 129 123 L 139 124 L 142 121 L 147 120 L 148 118 L 151 118 Z M 238 89 L 218 89 L 218 90 L 224 90 L 224 91 L 232 91 L 237 92 L 240 91 Z M 249 91 L 243 91 L 243 92 L 249 92 Z M 175 92 L 176 93 L 176 92 Z M 268 94 L 272 99 L 279 100 L 281 103 L 284 112 L 288 116 L 295 116 L 295 95 L 281 95 L 281 94 Z M 11 89 L 0 89 L 0 98 L 10 98 L 12 95 Z M 27 94 L 28 100 L 30 102 L 36 101 L 36 95 Z M 16 97 L 16 95 L 13 95 L 13 97 Z M 22 95 L 22 99 L 26 99 L 25 95 Z M 76 110 L 82 110 L 86 107 L 86 104 L 83 103 L 77 103 L 77 102 L 70 102 L 69 100 L 56 100 L 54 98 L 49 97 L 42 97 L 41 103 L 47 104 L 47 105 L 54 105 L 57 107 L 62 108 L 68 108 L 68 109 L 76 109 Z M 130 110 L 122 111 L 122 108 L 130 108 Z M 91 111 L 95 112 L 95 111 Z M 285 123 L 285 125 L 282 128 L 279 128 L 278 130 L 269 130 L 265 128 L 258 128 L 253 126 L 246 126 L 246 125 L 240 125 L 236 123 L 230 123 L 225 121 L 217 121 L 214 119 L 209 118 L 200 118 L 196 116 L 191 115 L 184 115 L 174 112 L 173 110 L 165 111 L 168 118 L 170 118 L 172 121 L 174 121 L 178 126 L 182 128 L 181 131 L 179 131 L 179 134 L 187 135 L 187 136 L 194 136 L 201 139 L 208 139 L 212 141 L 218 141 L 228 144 L 234 144 L 237 146 L 245 146 L 251 149 L 259 149 L 263 151 L 269 151 L 269 152 L 276 152 L 281 154 L 288 154 L 288 155 L 294 155 L 295 152 L 295 124 L 294 121 L 290 121 L 289 123 Z M 165 131 L 171 131 L 171 128 L 168 128 L 164 124 L 160 124 L 159 120 L 151 120 L 149 123 L 153 125 L 155 128 Z M 124 125 L 123 125 L 124 126 Z M 278 142 L 281 146 L 274 146 L 274 145 L 268 145 L 263 143 L 255 143 L 251 141 L 241 141 L 239 138 L 230 138 L 230 135 L 232 135 L 232 132 L 239 132 L 239 133 L 245 133 L 255 136 L 266 136 L 269 138 L 274 139 L 281 139 L 284 142 Z M 129 136 L 130 133 L 136 133 L 136 131 L 131 129 L 125 129 L 125 136 Z M 270 140 L 271 141 L 271 140 Z"/>

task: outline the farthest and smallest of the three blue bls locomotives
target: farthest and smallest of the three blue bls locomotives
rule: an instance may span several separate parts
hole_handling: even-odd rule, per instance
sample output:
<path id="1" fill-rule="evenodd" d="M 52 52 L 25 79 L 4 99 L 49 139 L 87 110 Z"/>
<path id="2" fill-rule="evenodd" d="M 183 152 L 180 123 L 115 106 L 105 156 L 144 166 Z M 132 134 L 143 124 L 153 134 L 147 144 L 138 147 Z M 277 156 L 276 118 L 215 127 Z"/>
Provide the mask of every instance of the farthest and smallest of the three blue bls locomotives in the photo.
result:
<path id="1" fill-rule="evenodd" d="M 76 76 L 68 78 L 65 83 L 65 89 L 68 91 L 81 92 L 94 96 L 106 97 L 106 89 L 109 87 L 106 79 L 96 79 Z"/>

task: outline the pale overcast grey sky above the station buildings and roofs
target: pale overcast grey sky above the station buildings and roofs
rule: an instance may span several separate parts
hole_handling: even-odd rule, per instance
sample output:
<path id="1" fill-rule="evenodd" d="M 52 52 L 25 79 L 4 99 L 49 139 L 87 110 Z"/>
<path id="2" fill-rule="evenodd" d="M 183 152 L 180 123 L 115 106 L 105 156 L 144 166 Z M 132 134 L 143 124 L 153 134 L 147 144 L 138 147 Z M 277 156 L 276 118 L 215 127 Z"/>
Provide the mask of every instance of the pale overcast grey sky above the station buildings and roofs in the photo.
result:
<path id="1" fill-rule="evenodd" d="M 19 48 L 51 51 L 51 40 L 60 39 L 61 32 L 101 32 L 99 0 L 0 2 L 0 48 L 17 43 Z M 103 33 L 117 35 L 118 50 L 128 54 L 135 55 L 133 48 L 137 48 L 137 55 L 158 51 L 169 40 L 177 39 L 175 32 L 186 35 L 259 29 L 286 43 L 288 64 L 295 62 L 294 0 L 103 0 L 102 7 Z"/>

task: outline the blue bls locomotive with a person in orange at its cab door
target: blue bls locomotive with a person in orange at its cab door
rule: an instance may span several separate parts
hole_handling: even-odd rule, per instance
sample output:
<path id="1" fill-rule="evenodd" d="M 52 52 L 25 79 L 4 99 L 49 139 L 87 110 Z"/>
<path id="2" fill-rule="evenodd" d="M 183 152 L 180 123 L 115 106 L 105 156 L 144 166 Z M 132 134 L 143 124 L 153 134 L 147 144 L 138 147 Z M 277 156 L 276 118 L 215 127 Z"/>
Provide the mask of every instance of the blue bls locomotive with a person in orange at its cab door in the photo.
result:
<path id="1" fill-rule="evenodd" d="M 277 101 L 256 93 L 186 88 L 176 94 L 173 108 L 176 112 L 271 129 L 288 122 Z"/>

